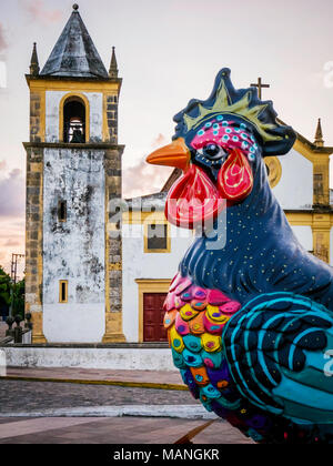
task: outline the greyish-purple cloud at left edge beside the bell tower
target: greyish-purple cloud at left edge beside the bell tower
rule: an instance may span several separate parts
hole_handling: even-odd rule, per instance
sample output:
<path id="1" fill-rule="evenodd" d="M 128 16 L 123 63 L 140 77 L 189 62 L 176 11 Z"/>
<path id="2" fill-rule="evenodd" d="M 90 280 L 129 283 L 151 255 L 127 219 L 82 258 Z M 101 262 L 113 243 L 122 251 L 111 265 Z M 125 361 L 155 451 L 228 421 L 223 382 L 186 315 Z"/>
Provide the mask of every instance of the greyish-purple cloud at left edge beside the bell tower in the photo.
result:
<path id="1" fill-rule="evenodd" d="M 24 179 L 19 169 L 0 179 L 0 216 L 24 214 Z"/>

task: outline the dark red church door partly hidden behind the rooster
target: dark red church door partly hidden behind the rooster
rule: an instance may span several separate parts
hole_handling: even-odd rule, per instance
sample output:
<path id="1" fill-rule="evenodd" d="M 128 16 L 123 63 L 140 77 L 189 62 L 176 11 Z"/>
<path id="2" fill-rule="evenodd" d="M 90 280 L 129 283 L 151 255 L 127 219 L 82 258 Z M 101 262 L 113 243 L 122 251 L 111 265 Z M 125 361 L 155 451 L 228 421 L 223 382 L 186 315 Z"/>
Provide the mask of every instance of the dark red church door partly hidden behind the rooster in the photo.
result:
<path id="1" fill-rule="evenodd" d="M 143 293 L 143 342 L 168 342 L 163 326 L 167 293 Z"/>

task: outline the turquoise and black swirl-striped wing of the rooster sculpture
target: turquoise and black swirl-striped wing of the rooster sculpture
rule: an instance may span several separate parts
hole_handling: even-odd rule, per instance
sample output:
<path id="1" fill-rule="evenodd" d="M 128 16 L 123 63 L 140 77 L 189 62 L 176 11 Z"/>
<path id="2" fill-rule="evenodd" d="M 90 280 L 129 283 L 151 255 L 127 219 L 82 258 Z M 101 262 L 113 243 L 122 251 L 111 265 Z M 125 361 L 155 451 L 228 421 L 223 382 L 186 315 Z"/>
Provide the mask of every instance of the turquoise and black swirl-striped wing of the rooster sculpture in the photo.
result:
<path id="1" fill-rule="evenodd" d="M 260 408 L 296 418 L 291 393 L 282 394 L 289 381 L 294 399 L 320 376 L 319 359 L 333 337 L 333 313 L 324 306 L 292 293 L 263 294 L 248 303 L 223 333 L 225 356 L 240 393 Z M 329 332 L 331 331 L 331 332 Z M 310 352 L 313 352 L 311 354 Z M 316 363 L 314 356 L 319 355 Z M 311 362 L 309 362 L 311 359 Z M 290 381 L 293 381 L 292 384 Z M 322 388 L 325 402 L 332 401 L 326 416 L 333 421 L 333 385 Z M 303 396 L 304 403 L 306 396 Z M 307 399 L 309 408 L 320 408 L 319 399 Z M 303 416 L 306 416 L 304 407 Z M 310 421 L 299 413 L 297 421 Z M 313 421 L 313 419 L 311 419 Z"/>

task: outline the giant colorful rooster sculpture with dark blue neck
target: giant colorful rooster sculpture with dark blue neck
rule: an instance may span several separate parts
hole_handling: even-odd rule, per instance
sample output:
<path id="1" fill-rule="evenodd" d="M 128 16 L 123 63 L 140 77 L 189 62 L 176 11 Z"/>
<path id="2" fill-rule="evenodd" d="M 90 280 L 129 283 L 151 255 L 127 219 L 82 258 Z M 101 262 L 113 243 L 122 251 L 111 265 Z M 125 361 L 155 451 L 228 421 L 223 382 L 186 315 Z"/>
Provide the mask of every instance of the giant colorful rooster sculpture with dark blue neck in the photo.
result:
<path id="1" fill-rule="evenodd" d="M 148 162 L 182 169 L 167 217 L 203 231 L 164 304 L 174 364 L 208 411 L 259 443 L 333 443 L 333 269 L 295 239 L 264 164 L 295 133 L 229 69 L 174 121 Z"/>

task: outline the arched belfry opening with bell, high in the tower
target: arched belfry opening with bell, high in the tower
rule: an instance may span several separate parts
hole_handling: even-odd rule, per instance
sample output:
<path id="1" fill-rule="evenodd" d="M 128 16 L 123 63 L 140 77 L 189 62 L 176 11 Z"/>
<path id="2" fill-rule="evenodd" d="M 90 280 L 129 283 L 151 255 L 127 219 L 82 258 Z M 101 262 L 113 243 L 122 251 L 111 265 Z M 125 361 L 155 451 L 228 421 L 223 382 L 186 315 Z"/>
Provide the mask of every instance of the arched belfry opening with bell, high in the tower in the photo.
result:
<path id="1" fill-rule="evenodd" d="M 63 104 L 63 142 L 85 142 L 85 104 L 79 97 L 70 97 Z"/>

